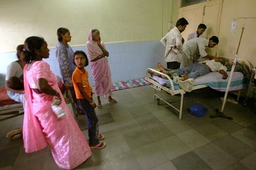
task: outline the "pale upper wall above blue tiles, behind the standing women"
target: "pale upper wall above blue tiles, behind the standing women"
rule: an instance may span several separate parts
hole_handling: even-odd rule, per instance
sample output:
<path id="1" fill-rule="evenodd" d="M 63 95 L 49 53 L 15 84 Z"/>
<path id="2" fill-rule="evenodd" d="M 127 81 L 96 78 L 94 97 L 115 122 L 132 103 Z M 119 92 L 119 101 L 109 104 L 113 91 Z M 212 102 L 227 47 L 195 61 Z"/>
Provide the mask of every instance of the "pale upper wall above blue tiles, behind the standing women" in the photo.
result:
<path id="1" fill-rule="evenodd" d="M 54 48 L 59 27 L 70 30 L 71 46 L 84 45 L 92 28 L 105 43 L 159 40 L 162 11 L 163 0 L 0 0 L 0 52 L 14 52 L 28 36 Z"/>

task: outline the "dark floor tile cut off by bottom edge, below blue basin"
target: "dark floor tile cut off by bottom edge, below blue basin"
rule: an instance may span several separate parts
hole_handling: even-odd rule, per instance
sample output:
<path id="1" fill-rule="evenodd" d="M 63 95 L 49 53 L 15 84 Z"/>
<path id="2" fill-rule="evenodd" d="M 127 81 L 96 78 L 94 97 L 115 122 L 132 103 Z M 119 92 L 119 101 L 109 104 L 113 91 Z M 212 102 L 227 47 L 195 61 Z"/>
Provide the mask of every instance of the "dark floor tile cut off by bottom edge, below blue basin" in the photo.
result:
<path id="1" fill-rule="evenodd" d="M 212 170 L 192 151 L 171 160 L 171 162 L 178 170 Z"/>

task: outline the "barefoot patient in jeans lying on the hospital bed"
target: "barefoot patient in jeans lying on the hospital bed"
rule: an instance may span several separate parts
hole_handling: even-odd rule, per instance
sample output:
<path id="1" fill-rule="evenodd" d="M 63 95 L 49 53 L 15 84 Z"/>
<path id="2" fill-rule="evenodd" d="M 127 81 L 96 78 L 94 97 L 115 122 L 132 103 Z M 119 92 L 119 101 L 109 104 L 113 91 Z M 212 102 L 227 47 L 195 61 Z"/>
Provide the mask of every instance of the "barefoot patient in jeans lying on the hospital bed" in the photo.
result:
<path id="1" fill-rule="evenodd" d="M 162 64 L 159 62 L 157 64 L 157 68 L 171 78 L 174 76 L 182 76 L 181 80 L 185 80 L 188 78 L 197 78 L 199 76 L 206 75 L 210 72 L 219 72 L 222 74 L 222 79 L 227 79 L 228 74 L 226 73 L 227 67 L 225 65 L 225 58 L 217 57 L 213 60 L 203 61 L 202 63 L 192 64 L 188 67 L 179 68 L 176 70 L 165 69 Z M 165 76 L 162 76 L 165 78 Z"/>

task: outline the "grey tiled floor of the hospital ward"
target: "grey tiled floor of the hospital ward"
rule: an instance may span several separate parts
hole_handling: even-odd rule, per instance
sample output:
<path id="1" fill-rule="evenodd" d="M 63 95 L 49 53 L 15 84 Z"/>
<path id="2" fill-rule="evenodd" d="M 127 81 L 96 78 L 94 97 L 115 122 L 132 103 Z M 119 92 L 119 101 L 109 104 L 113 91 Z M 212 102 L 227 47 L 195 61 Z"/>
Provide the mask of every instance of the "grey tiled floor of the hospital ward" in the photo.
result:
<path id="1" fill-rule="evenodd" d="M 210 118 L 221 108 L 223 92 L 203 88 L 184 95 L 183 115 L 167 104 L 156 104 L 150 85 L 114 91 L 118 103 L 103 99 L 96 109 L 100 132 L 107 146 L 78 170 L 253 170 L 256 169 L 256 114 L 241 104 L 226 103 L 224 112 L 234 119 Z M 179 106 L 180 96 L 161 95 Z M 229 94 L 230 95 L 230 94 Z M 189 106 L 201 104 L 209 112 L 195 117 Z M 50 150 L 25 154 L 22 140 L 9 140 L 6 132 L 22 127 L 19 116 L 0 122 L 0 170 L 58 170 Z M 88 138 L 85 116 L 78 124 Z"/>

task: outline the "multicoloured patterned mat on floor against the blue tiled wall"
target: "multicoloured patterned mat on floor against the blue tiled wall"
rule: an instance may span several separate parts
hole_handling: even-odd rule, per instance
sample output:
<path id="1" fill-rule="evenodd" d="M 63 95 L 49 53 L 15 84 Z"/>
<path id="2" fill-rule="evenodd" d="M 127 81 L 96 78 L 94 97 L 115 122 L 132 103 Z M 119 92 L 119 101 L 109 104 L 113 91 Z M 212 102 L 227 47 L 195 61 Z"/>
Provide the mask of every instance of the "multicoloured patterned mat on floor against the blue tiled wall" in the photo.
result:
<path id="1" fill-rule="evenodd" d="M 142 85 L 150 85 L 150 84 L 151 83 L 144 78 L 116 82 L 116 83 L 113 83 L 111 91 L 122 90 L 125 88 L 134 88 L 134 87 L 138 87 L 138 86 L 142 86 Z"/>

